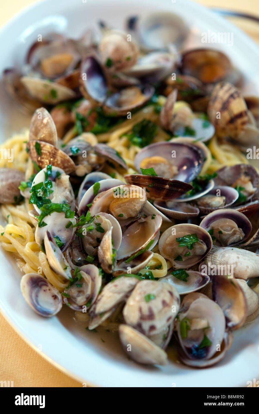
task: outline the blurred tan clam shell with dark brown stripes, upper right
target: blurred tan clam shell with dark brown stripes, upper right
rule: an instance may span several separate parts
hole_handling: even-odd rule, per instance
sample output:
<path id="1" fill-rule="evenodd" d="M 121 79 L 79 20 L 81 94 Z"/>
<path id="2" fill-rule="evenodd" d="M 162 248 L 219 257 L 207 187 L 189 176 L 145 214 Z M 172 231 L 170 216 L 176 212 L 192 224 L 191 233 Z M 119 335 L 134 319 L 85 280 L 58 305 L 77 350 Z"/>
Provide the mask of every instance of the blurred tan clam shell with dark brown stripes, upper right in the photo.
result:
<path id="1" fill-rule="evenodd" d="M 245 99 L 232 84 L 218 83 L 211 94 L 208 116 L 219 137 L 236 138 L 248 123 Z"/>

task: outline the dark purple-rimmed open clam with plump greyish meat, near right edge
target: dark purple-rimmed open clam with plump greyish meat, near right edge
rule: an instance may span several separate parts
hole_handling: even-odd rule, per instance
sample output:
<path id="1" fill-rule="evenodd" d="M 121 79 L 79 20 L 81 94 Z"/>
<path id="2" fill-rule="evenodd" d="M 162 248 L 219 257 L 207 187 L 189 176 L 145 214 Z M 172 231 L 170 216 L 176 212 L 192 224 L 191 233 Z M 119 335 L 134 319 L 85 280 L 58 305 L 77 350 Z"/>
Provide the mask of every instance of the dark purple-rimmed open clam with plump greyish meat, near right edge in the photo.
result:
<path id="1" fill-rule="evenodd" d="M 233 246 L 245 241 L 252 224 L 242 213 L 233 209 L 220 209 L 209 213 L 200 226 L 216 238 L 217 246 Z"/>

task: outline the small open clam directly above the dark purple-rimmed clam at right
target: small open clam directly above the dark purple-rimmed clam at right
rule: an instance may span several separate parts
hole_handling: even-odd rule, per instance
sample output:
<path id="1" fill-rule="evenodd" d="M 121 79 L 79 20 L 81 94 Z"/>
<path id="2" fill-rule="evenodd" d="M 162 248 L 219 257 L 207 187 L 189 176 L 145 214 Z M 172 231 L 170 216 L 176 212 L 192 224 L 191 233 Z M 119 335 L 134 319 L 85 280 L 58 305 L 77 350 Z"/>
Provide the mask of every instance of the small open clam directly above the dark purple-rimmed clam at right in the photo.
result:
<path id="1" fill-rule="evenodd" d="M 221 197 L 224 197 L 225 200 Z M 235 201 L 237 201 L 238 197 L 239 193 L 235 190 L 235 188 L 228 187 L 226 185 L 218 185 L 210 190 L 204 197 L 201 199 L 198 198 L 195 201 L 201 214 L 209 214 L 214 210 L 230 207 Z M 220 204 L 221 202 L 223 203 L 222 205 Z"/>

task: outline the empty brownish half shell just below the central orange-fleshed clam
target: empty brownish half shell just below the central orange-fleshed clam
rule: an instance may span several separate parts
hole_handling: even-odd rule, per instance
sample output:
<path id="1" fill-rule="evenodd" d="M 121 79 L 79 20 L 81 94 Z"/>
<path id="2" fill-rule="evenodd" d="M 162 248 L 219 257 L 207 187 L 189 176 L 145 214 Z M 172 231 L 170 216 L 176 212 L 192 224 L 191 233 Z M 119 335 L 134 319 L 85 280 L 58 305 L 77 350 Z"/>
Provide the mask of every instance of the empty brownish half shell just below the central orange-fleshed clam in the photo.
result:
<path id="1" fill-rule="evenodd" d="M 135 221 L 122 233 L 122 241 L 117 251 L 118 260 L 127 259 L 129 266 L 130 258 L 136 253 L 143 253 L 142 250 L 151 250 L 157 243 L 157 234 L 162 224 L 160 215 L 147 216 Z M 133 256 L 133 257 L 132 257 Z"/>

